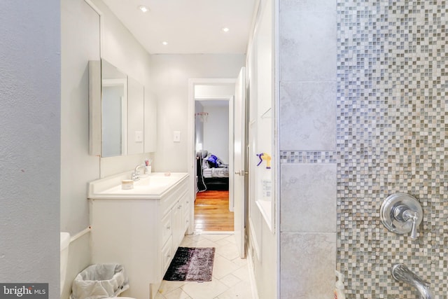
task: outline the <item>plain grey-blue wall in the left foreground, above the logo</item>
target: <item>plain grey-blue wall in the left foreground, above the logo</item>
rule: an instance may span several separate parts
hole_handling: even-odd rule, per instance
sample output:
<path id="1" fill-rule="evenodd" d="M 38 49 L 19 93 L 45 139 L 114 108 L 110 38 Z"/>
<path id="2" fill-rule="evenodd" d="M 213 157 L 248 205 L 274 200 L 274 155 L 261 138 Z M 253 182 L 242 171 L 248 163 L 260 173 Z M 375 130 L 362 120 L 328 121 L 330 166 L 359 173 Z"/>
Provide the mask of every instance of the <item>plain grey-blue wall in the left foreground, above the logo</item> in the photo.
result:
<path id="1" fill-rule="evenodd" d="M 0 281 L 58 298 L 59 0 L 0 8 Z"/>

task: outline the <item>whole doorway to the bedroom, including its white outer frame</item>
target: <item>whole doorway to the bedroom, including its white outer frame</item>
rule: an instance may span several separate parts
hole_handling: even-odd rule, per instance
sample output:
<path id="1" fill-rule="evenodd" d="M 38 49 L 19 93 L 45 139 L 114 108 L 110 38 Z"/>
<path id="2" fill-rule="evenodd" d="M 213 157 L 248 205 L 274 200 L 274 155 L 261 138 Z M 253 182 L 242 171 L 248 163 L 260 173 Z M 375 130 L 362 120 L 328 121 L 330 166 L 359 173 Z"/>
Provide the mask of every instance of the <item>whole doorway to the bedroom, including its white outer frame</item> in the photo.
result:
<path id="1" fill-rule="evenodd" d="M 190 79 L 188 137 L 192 161 L 190 179 L 193 198 L 200 204 L 197 221 L 209 221 L 204 231 L 233 230 L 233 96 L 235 79 Z M 193 117 L 192 117 L 193 116 Z M 214 134 L 212 131 L 215 131 Z M 210 158 L 210 159 L 209 159 Z M 211 158 L 217 162 L 213 165 Z M 210 161 L 207 161 L 210 160 Z M 204 164 L 203 164 L 204 163 Z M 202 169 L 207 165 L 207 169 Z M 205 170 L 205 174 L 203 172 Z M 204 178 L 204 176 L 206 176 Z M 223 206 L 226 203 L 226 207 Z M 192 219 L 196 214 L 193 209 Z M 204 214 L 205 213 L 205 214 Z M 190 233 L 195 232 L 195 222 Z M 223 226 L 219 228 L 220 221 Z M 232 221 L 229 225 L 229 221 Z M 232 228 L 232 229 L 230 229 Z"/>

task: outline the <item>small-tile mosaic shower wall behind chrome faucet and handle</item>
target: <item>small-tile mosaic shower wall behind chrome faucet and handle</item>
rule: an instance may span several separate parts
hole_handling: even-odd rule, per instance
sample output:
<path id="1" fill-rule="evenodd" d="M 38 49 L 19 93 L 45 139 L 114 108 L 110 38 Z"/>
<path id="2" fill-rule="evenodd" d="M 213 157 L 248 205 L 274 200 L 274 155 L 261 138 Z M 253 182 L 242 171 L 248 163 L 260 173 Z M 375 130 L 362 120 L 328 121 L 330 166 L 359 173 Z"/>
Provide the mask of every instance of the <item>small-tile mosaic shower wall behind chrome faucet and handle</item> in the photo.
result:
<path id="1" fill-rule="evenodd" d="M 391 277 L 395 263 L 447 298 L 446 2 L 337 0 L 337 268 L 347 298 L 416 298 Z M 381 224 L 381 203 L 397 192 L 423 207 L 416 241 Z"/>

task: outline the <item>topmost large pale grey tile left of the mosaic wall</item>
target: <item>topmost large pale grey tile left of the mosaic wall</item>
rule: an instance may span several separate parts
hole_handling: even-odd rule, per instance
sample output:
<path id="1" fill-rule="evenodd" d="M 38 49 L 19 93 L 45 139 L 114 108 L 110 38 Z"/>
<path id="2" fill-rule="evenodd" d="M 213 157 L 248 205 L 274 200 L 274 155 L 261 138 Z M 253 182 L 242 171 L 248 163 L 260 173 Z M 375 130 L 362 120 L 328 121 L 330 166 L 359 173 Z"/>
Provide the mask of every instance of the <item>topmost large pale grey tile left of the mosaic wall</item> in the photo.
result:
<path id="1" fill-rule="evenodd" d="M 336 81 L 335 0 L 280 1 L 281 81 Z"/>

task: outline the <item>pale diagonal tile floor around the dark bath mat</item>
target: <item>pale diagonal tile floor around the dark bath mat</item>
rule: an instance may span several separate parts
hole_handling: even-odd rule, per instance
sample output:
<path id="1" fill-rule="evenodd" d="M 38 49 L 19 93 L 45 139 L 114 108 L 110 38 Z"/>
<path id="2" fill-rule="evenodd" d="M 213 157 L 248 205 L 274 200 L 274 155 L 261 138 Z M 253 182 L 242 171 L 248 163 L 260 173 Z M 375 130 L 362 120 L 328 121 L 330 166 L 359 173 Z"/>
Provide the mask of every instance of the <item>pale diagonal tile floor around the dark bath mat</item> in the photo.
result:
<path id="1" fill-rule="evenodd" d="M 215 247 L 213 278 L 201 283 L 164 280 L 155 299 L 254 299 L 247 260 L 239 258 L 234 235 L 187 235 L 181 246 Z"/>

